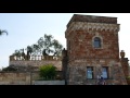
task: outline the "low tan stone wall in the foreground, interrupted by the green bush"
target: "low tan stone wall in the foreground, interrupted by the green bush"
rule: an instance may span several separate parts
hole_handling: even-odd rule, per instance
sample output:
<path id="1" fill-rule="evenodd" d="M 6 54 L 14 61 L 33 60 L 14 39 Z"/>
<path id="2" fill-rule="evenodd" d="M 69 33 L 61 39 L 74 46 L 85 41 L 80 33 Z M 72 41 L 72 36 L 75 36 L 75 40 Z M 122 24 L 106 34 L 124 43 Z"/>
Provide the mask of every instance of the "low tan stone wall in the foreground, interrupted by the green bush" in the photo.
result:
<path id="1" fill-rule="evenodd" d="M 57 74 L 62 77 L 61 71 Z M 34 85 L 38 78 L 39 72 L 0 72 L 0 85 Z"/>

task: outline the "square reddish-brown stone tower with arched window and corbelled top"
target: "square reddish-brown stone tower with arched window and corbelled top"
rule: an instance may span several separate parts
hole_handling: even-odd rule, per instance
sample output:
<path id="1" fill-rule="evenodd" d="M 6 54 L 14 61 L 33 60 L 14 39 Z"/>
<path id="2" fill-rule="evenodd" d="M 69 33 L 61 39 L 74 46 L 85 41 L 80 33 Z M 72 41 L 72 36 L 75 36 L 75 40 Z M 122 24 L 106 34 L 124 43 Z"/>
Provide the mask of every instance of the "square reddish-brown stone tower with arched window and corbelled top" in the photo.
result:
<path id="1" fill-rule="evenodd" d="M 108 85 L 127 84 L 118 32 L 117 17 L 74 14 L 65 32 L 68 85 L 95 85 L 100 76 Z"/>

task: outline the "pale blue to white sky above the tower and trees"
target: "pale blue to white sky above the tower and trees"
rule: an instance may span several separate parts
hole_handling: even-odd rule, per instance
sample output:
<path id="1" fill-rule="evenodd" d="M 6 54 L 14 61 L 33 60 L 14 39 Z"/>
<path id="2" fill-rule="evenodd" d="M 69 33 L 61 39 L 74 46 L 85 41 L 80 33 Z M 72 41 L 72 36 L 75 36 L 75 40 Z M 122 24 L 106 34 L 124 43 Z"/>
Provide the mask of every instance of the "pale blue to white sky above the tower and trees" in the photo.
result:
<path id="1" fill-rule="evenodd" d="M 74 14 L 118 17 L 119 50 L 130 59 L 130 13 L 0 13 L 0 69 L 9 66 L 9 57 L 16 50 L 36 44 L 44 34 L 52 35 L 66 48 L 66 25 Z"/>

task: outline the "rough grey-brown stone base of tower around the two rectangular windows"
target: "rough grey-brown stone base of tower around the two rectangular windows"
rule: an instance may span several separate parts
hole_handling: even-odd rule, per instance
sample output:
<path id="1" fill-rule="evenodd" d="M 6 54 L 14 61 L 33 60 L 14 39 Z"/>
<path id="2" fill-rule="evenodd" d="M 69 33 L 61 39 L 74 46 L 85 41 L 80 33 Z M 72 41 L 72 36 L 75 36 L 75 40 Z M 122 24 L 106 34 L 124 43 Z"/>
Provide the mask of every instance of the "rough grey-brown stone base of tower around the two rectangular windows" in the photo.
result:
<path id="1" fill-rule="evenodd" d="M 93 66 L 93 79 L 87 78 L 87 66 Z M 105 79 L 107 85 L 127 85 L 121 64 L 110 59 L 106 59 L 102 63 L 96 60 L 91 60 L 91 62 L 88 60 L 83 60 L 83 62 L 82 60 L 75 60 L 68 65 L 67 84 L 96 85 L 98 75 L 100 75 L 99 71 L 101 71 L 102 66 L 108 68 L 108 79 Z"/>

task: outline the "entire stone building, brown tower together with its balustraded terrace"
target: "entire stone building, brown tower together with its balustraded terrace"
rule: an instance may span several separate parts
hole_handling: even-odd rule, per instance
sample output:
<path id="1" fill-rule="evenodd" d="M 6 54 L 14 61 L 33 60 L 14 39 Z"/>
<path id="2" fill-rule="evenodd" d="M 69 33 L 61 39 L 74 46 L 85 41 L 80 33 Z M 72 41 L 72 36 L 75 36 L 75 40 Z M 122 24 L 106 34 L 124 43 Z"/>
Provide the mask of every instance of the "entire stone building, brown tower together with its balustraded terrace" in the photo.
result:
<path id="1" fill-rule="evenodd" d="M 100 76 L 106 85 L 127 85 L 129 60 L 125 51 L 119 52 L 119 28 L 117 17 L 74 14 L 65 32 L 67 49 L 62 51 L 62 61 L 51 56 L 10 56 L 10 65 L 37 71 L 53 64 L 63 72 L 66 85 L 96 85 Z"/>

